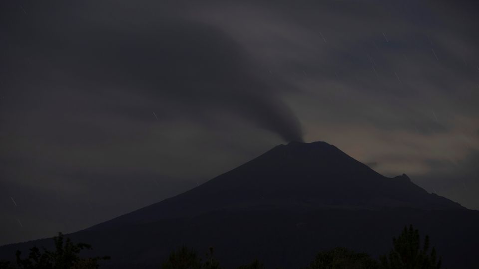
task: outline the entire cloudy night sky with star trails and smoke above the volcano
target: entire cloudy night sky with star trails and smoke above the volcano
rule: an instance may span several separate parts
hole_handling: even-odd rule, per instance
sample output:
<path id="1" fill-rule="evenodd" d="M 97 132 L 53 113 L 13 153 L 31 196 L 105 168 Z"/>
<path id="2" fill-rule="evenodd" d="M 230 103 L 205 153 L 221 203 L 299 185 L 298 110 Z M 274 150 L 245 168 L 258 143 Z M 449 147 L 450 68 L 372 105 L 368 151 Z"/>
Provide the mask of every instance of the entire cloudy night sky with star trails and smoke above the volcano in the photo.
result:
<path id="1" fill-rule="evenodd" d="M 0 244 L 290 140 L 479 209 L 475 1 L 2 0 Z"/>

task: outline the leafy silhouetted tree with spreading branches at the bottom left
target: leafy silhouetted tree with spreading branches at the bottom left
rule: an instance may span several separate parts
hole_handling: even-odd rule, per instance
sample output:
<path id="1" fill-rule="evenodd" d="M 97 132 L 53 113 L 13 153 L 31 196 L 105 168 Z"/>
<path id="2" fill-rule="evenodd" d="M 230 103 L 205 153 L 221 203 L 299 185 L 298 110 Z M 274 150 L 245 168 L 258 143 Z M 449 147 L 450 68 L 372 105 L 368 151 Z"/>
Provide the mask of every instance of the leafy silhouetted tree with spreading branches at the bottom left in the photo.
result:
<path id="1" fill-rule="evenodd" d="M 16 263 L 21 269 L 97 269 L 98 261 L 109 260 L 110 257 L 80 258 L 80 251 L 91 249 L 84 243 L 73 244 L 69 238 L 63 241 L 63 234 L 53 238 L 55 251 L 43 248 L 43 253 L 36 247 L 30 249 L 28 258 L 21 259 L 21 252 L 16 251 Z"/>

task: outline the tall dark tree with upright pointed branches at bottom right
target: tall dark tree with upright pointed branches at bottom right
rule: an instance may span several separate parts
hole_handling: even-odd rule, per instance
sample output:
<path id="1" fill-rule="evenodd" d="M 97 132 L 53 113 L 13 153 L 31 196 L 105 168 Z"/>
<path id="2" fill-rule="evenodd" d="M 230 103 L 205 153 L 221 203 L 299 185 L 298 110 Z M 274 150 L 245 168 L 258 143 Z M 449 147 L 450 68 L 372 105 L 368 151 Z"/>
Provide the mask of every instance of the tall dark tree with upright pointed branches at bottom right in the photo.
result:
<path id="1" fill-rule="evenodd" d="M 429 250 L 429 236 L 424 240 L 421 248 L 419 231 L 412 225 L 404 227 L 398 238 L 393 238 L 393 249 L 389 256 L 380 258 L 381 266 L 384 269 L 440 269 L 441 257 L 437 261 L 436 249 Z"/>

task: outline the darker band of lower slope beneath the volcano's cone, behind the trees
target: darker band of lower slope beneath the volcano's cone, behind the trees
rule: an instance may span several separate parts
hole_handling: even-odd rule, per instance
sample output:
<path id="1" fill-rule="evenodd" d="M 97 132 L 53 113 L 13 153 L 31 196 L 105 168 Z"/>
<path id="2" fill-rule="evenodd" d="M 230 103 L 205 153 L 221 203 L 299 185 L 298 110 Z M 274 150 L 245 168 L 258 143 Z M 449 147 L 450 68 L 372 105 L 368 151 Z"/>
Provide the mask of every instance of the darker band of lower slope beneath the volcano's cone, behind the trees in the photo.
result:
<path id="1" fill-rule="evenodd" d="M 442 268 L 476 269 L 479 212 L 472 210 L 322 210 L 217 211 L 191 219 L 160 221 L 109 231 L 82 231 L 68 235 L 86 242 L 89 256 L 109 255 L 101 268 L 159 268 L 180 246 L 197 250 L 215 248 L 225 268 L 253 259 L 266 268 L 307 266 L 318 251 L 337 246 L 372 257 L 387 254 L 391 238 L 414 224 L 443 257 Z M 51 246 L 51 239 L 0 248 L 0 259 L 11 259 L 17 249 L 27 253 L 36 246 Z"/>

